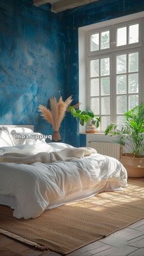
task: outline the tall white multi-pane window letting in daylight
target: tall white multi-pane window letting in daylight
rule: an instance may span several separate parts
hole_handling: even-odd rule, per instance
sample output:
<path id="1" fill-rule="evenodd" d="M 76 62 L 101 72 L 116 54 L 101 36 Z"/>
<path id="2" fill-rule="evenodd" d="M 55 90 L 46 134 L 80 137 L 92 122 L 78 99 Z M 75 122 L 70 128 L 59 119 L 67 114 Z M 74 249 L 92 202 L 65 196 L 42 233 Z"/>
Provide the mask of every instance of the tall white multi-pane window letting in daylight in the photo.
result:
<path id="1" fill-rule="evenodd" d="M 140 103 L 142 19 L 87 32 L 87 102 L 100 131 Z"/>

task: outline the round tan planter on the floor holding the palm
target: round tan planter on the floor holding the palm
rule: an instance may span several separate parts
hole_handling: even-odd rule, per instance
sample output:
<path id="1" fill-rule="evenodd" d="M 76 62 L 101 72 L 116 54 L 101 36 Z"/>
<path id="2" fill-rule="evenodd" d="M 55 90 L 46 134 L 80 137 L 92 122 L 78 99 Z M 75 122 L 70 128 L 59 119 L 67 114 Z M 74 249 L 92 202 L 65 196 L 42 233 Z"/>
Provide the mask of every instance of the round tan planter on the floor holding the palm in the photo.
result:
<path id="1" fill-rule="evenodd" d="M 136 158 L 132 154 L 123 154 L 120 158 L 121 163 L 128 172 L 128 177 L 144 177 L 144 156 Z"/>

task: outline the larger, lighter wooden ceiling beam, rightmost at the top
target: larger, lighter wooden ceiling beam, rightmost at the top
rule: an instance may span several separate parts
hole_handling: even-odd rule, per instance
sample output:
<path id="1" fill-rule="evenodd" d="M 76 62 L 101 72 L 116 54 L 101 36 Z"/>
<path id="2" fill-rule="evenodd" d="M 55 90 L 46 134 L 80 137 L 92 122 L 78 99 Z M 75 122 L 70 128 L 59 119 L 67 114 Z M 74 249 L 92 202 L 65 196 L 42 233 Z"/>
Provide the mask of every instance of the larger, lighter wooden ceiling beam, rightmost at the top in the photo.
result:
<path id="1" fill-rule="evenodd" d="M 89 4 L 90 2 L 96 2 L 99 0 L 59 0 L 52 4 L 53 12 L 62 12 L 63 10 L 75 8 L 84 4 Z"/>

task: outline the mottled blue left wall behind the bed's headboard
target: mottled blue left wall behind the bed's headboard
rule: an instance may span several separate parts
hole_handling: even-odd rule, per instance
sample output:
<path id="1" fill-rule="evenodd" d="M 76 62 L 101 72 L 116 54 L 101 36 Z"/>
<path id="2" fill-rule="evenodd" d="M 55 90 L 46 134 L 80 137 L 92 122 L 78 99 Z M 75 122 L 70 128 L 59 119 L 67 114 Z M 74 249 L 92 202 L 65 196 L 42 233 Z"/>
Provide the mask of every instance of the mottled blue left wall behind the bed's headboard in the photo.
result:
<path id="1" fill-rule="evenodd" d="M 51 134 L 38 104 L 65 95 L 65 34 L 50 5 L 0 1 L 0 123 Z M 65 122 L 62 125 L 65 138 Z"/>

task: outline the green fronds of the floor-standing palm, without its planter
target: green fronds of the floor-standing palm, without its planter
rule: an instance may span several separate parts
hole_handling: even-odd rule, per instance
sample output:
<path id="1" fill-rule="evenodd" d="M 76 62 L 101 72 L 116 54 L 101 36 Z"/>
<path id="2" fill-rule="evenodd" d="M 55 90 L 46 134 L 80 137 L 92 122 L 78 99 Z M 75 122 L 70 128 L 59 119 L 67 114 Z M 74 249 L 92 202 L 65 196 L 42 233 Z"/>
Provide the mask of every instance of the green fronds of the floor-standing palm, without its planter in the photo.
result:
<path id="1" fill-rule="evenodd" d="M 105 134 L 116 136 L 118 144 L 125 146 L 132 155 L 140 157 L 144 155 L 144 103 L 124 113 L 126 121 L 121 130 L 117 124 L 107 126 Z"/>

